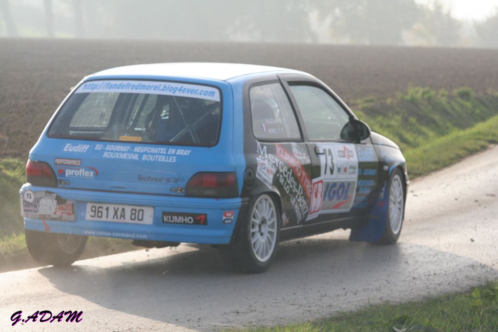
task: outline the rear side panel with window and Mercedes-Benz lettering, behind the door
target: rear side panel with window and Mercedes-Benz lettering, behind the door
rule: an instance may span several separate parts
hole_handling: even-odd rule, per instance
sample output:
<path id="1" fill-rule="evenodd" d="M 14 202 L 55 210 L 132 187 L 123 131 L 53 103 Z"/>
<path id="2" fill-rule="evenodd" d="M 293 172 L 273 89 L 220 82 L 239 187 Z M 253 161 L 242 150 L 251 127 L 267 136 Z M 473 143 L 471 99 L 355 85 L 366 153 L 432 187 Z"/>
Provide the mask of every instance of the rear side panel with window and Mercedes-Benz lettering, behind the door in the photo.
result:
<path id="1" fill-rule="evenodd" d="M 282 204 L 281 228 L 303 225 L 311 199 L 311 160 L 287 94 L 277 80 L 248 89 L 245 155 L 255 186 L 243 196 L 274 192 Z"/>

